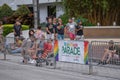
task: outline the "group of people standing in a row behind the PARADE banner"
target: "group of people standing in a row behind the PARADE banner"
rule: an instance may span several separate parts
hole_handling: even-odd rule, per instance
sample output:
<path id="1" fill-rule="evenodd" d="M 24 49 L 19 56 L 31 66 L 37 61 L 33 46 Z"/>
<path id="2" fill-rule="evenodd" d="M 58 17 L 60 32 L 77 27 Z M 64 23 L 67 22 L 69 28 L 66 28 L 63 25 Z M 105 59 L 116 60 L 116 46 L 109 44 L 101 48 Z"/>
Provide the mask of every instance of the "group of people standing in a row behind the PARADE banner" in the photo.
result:
<path id="1" fill-rule="evenodd" d="M 70 40 L 83 40 L 83 25 L 82 21 L 77 23 L 73 18 L 69 18 L 68 23 L 64 25 L 61 18 L 48 18 L 46 25 L 47 39 L 57 37 L 58 40 L 64 40 L 65 35 Z"/>

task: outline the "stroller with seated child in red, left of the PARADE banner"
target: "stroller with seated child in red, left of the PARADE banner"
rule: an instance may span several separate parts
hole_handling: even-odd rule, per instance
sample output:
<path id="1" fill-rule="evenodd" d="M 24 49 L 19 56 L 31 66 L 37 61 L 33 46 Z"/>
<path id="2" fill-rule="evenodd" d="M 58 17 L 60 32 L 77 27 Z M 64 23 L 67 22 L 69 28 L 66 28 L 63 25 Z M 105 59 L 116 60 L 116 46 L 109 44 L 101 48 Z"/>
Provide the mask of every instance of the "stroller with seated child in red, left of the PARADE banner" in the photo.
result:
<path id="1" fill-rule="evenodd" d="M 36 66 L 42 67 L 43 63 L 46 63 L 46 66 L 53 66 L 54 63 L 54 53 L 52 41 L 49 40 L 44 43 L 44 50 L 40 50 L 37 53 Z"/>

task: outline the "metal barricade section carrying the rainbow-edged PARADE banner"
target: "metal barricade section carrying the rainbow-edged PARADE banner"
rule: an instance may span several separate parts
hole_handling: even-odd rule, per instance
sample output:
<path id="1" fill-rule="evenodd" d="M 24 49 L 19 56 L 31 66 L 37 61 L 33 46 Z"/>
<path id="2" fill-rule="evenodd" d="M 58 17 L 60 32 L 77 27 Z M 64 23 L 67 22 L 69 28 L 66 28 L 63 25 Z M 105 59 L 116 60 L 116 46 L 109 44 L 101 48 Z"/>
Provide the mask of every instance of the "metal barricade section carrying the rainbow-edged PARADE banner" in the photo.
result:
<path id="1" fill-rule="evenodd" d="M 56 68 L 89 73 L 88 41 L 55 41 Z"/>

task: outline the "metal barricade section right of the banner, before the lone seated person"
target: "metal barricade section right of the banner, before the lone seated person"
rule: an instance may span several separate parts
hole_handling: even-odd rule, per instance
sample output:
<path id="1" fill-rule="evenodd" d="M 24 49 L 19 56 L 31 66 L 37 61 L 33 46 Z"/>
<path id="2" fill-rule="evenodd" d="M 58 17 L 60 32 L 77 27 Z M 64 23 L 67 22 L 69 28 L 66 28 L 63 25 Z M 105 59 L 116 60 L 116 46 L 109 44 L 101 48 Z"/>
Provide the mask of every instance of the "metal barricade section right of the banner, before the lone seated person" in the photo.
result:
<path id="1" fill-rule="evenodd" d="M 117 50 L 117 53 L 105 54 L 106 49 L 109 49 L 108 41 L 92 41 L 90 43 L 90 53 L 89 58 L 92 65 L 92 72 L 95 75 L 112 77 L 113 79 L 120 79 L 120 42 L 114 43 L 114 49 Z M 105 61 L 109 58 L 109 54 L 112 54 L 108 64 Z M 103 58 L 103 56 L 105 56 Z M 101 60 L 104 60 L 103 63 L 99 64 Z"/>

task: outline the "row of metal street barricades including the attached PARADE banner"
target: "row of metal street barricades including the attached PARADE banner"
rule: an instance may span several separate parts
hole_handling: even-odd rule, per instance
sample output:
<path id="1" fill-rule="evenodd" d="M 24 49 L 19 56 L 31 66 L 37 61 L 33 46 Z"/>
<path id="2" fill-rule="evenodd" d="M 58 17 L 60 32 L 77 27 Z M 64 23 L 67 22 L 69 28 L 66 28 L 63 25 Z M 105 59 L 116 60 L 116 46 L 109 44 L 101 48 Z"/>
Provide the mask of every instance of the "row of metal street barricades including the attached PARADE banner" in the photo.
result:
<path id="1" fill-rule="evenodd" d="M 7 39 L 9 39 L 9 43 L 15 42 L 14 38 Z M 115 47 L 117 57 L 112 55 L 107 65 L 98 65 L 102 60 L 104 50 L 109 48 L 108 41 L 92 41 L 89 43 L 88 41 L 55 40 L 54 65 L 46 66 L 43 63 L 43 67 L 120 79 L 120 42 L 115 42 L 114 45 L 117 46 Z M 27 39 L 24 48 L 29 46 L 30 39 Z M 104 60 L 107 58 L 106 55 Z"/>

